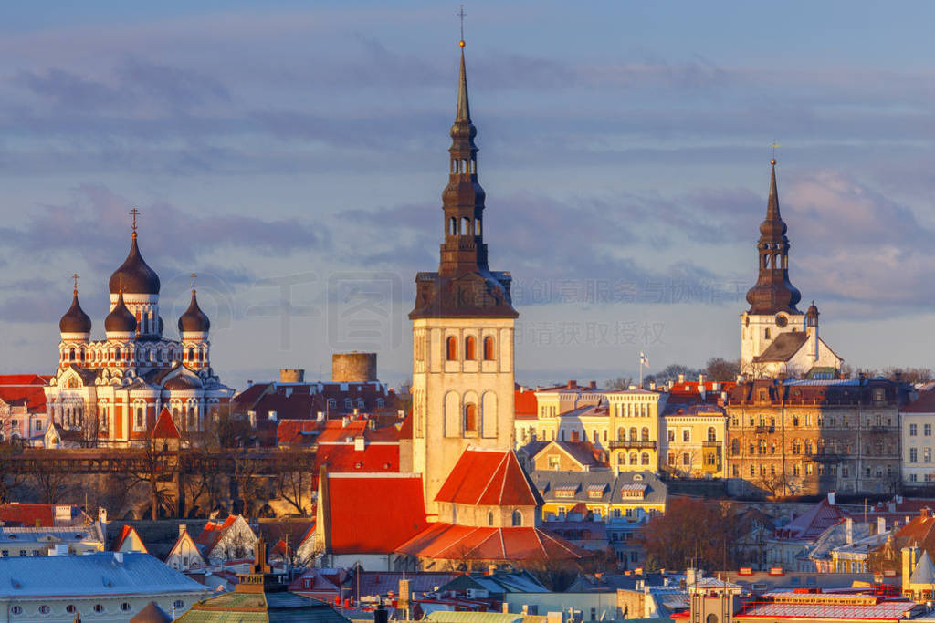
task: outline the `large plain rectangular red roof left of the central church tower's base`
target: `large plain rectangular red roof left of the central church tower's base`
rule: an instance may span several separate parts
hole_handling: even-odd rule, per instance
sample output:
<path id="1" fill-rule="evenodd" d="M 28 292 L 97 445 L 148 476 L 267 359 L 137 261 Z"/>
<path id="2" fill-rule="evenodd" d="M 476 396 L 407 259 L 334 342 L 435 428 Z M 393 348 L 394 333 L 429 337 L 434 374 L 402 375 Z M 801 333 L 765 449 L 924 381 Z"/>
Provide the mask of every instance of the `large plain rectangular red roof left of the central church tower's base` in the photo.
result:
<path id="1" fill-rule="evenodd" d="M 328 474 L 326 497 L 335 554 L 389 554 L 425 528 L 419 475 Z"/>

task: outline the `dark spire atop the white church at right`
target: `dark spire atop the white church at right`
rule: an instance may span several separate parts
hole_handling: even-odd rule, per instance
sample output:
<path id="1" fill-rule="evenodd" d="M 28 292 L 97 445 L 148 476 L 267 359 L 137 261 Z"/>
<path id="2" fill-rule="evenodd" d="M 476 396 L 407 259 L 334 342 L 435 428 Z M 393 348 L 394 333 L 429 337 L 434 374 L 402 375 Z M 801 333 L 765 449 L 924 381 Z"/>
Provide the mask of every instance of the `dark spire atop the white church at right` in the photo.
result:
<path id="1" fill-rule="evenodd" d="M 776 159 L 770 160 L 770 199 L 766 219 L 760 223 L 760 237 L 756 243 L 759 276 L 753 288 L 747 291 L 750 314 L 800 313 L 796 304 L 802 295 L 789 281 L 789 239 L 779 212 L 779 190 L 776 185 Z"/>

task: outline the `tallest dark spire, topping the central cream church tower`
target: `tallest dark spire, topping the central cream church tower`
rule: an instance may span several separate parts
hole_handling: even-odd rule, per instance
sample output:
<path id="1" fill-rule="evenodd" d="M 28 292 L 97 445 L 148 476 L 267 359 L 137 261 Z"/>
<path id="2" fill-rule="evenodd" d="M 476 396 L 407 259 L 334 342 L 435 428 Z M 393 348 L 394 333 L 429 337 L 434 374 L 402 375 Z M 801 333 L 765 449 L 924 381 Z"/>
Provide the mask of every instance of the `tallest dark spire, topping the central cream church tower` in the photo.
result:
<path id="1" fill-rule="evenodd" d="M 515 318 L 509 273 L 492 273 L 483 243 L 485 194 L 477 176 L 477 128 L 470 119 L 468 71 L 461 41 L 461 72 L 448 149 L 448 185 L 441 193 L 444 238 L 438 273 L 416 276 L 410 318 L 487 316 Z"/>

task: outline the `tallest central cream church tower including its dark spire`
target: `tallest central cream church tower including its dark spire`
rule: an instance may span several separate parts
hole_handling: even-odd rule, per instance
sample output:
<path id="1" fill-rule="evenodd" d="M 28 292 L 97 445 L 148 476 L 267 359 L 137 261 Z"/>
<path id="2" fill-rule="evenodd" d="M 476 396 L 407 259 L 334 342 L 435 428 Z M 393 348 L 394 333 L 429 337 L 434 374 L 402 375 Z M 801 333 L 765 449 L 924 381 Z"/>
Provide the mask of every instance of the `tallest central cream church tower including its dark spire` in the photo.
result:
<path id="1" fill-rule="evenodd" d="M 441 194 L 439 270 L 416 276 L 412 320 L 412 452 L 425 501 L 468 446 L 513 445 L 511 276 L 490 270 L 483 241 L 484 191 L 471 121 L 464 40 Z M 431 511 L 430 511 L 431 512 Z"/>

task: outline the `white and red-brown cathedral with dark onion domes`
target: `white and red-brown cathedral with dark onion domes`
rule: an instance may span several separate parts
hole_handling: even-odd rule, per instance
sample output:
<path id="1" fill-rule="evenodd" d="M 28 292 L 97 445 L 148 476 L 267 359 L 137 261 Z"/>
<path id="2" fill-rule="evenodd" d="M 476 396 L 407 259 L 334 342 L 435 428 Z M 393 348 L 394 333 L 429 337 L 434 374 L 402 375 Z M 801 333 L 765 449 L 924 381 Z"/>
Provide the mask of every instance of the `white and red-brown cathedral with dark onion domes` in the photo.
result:
<path id="1" fill-rule="evenodd" d="M 110 276 L 104 339 L 92 339 L 91 318 L 78 300 L 59 322 L 59 365 L 46 387 L 49 422 L 80 432 L 89 445 L 142 446 L 164 407 L 184 435 L 204 430 L 226 408 L 233 389 L 211 369 L 208 316 L 192 302 L 178 321 L 179 339 L 164 335 L 159 276 L 143 260 L 137 210 L 130 252 Z"/>

